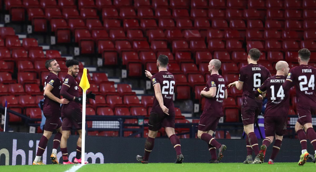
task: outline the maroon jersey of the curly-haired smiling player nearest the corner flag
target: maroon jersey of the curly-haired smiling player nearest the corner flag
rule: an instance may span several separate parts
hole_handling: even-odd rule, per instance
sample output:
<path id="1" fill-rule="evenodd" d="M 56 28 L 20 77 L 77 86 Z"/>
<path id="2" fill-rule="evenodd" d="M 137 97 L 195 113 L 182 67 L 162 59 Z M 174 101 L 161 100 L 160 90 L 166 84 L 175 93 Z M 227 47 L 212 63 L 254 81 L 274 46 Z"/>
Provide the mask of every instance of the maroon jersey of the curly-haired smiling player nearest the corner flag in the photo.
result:
<path id="1" fill-rule="evenodd" d="M 69 89 L 67 90 L 67 92 L 75 97 L 79 97 L 79 85 L 76 82 L 75 78 L 69 74 L 67 74 L 63 80 L 63 85 L 69 87 Z M 70 102 L 68 104 L 65 104 L 63 106 L 74 106 L 77 108 L 81 108 L 80 104 L 77 103 L 75 100 L 69 100 Z"/>

